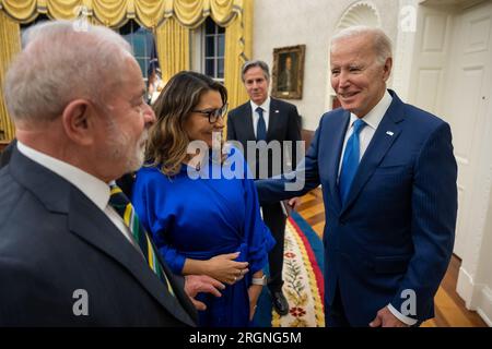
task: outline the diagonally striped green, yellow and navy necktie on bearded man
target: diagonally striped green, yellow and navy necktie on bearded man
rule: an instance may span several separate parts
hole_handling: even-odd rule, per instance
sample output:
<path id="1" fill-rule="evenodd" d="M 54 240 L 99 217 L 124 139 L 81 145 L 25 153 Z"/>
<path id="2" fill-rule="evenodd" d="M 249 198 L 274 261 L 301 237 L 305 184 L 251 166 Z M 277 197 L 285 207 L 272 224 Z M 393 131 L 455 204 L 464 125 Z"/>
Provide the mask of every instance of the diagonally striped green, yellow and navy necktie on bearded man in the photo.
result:
<path id="1" fill-rule="evenodd" d="M 155 273 L 155 275 L 167 285 L 167 290 L 174 296 L 171 282 L 162 267 L 159 258 L 155 254 L 155 246 L 153 245 L 145 228 L 140 222 L 139 216 L 134 212 L 133 206 L 128 200 L 127 195 L 121 191 L 121 189 L 116 184 L 110 184 L 112 195 L 109 197 L 109 205 L 121 216 L 125 225 L 130 229 L 133 241 L 140 246 L 140 250 L 145 257 L 150 268 Z"/>

